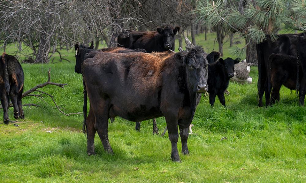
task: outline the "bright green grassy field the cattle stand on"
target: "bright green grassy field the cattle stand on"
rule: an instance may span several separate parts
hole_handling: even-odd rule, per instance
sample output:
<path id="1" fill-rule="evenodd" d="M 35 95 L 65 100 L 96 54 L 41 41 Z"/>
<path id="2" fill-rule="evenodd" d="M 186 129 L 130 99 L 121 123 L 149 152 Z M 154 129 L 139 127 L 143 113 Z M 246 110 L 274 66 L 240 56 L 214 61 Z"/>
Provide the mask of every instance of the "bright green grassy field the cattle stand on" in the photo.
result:
<path id="1" fill-rule="evenodd" d="M 197 41 L 212 51 L 214 36 L 203 41 L 198 35 Z M 228 42 L 224 57 L 230 56 Z M 53 95 L 64 112 L 81 112 L 83 85 L 81 75 L 74 73 L 74 51 L 66 58 L 72 62 L 22 64 L 25 90 L 47 81 L 51 68 L 51 81 L 68 86 L 42 90 Z M 182 163 L 170 160 L 168 135 L 152 135 L 151 121 L 136 132 L 135 123 L 119 117 L 109 124 L 114 155 L 104 152 L 96 135 L 97 155 L 88 157 L 81 115 L 61 114 L 47 96 L 46 103 L 24 98 L 23 103 L 40 107 L 24 107 L 19 127 L 3 124 L 0 112 L 0 182 L 305 182 L 306 109 L 297 106 L 295 92 L 287 88 L 281 89 L 280 103 L 258 108 L 256 67 L 250 75 L 252 84 L 230 83 L 227 109 L 218 99 L 211 108 L 208 97 L 202 97 L 188 139 L 190 155 L 179 153 Z M 13 119 L 12 109 L 9 116 Z M 157 119 L 157 124 L 161 133 L 165 119 Z"/>

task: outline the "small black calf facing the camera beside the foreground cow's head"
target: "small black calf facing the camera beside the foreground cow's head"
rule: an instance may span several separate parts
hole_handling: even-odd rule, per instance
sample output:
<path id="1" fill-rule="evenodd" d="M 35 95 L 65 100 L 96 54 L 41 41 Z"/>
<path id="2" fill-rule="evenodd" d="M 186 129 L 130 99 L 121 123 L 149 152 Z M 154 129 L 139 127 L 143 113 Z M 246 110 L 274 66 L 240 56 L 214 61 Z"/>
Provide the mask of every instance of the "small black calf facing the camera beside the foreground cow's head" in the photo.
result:
<path id="1" fill-rule="evenodd" d="M 221 104 L 226 107 L 224 91 L 229 85 L 230 78 L 234 76 L 235 64 L 239 62 L 240 58 L 235 60 L 220 58 L 217 62 L 208 65 L 208 93 L 211 106 L 214 106 L 218 95 Z"/>

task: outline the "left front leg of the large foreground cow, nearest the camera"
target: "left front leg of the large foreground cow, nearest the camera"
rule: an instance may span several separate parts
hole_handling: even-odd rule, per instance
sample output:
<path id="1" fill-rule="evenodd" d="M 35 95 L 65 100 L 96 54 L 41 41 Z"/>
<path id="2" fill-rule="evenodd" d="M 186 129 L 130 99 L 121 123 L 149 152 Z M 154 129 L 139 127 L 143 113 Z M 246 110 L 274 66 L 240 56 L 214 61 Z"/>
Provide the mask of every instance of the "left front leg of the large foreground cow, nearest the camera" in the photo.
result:
<path id="1" fill-rule="evenodd" d="M 180 156 L 178 155 L 177 151 L 177 140 L 178 140 L 177 118 L 165 116 L 165 119 L 168 128 L 169 140 L 171 142 L 171 159 L 172 161 L 181 162 Z"/>

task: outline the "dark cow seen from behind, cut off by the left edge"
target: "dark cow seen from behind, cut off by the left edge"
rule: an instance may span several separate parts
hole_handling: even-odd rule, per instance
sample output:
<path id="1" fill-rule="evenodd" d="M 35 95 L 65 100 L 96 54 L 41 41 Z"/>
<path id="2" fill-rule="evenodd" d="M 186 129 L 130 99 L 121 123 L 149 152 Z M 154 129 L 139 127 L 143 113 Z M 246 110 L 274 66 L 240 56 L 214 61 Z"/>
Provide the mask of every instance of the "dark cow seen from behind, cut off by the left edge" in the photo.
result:
<path id="1" fill-rule="evenodd" d="M 15 119 L 24 119 L 21 97 L 24 84 L 24 73 L 18 60 L 11 55 L 3 53 L 0 56 L 0 98 L 3 108 L 3 122 L 9 124 L 9 99 L 14 107 Z"/>

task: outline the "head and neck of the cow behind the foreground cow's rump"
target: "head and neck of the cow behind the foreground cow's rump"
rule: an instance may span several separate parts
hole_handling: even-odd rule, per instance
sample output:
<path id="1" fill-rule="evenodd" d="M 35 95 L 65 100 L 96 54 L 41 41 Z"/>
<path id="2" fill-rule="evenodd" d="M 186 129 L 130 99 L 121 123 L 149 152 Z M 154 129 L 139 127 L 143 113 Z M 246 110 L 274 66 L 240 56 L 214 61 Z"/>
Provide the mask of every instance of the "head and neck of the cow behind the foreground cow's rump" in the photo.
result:
<path id="1" fill-rule="evenodd" d="M 74 49 L 76 50 L 76 66 L 74 67 L 74 72 L 78 74 L 82 74 L 82 63 L 84 62 L 84 57 L 86 53 L 90 52 L 94 49 L 94 43 L 91 41 L 90 47 L 84 46 L 84 45 L 78 45 L 76 44 L 74 46 Z"/>

